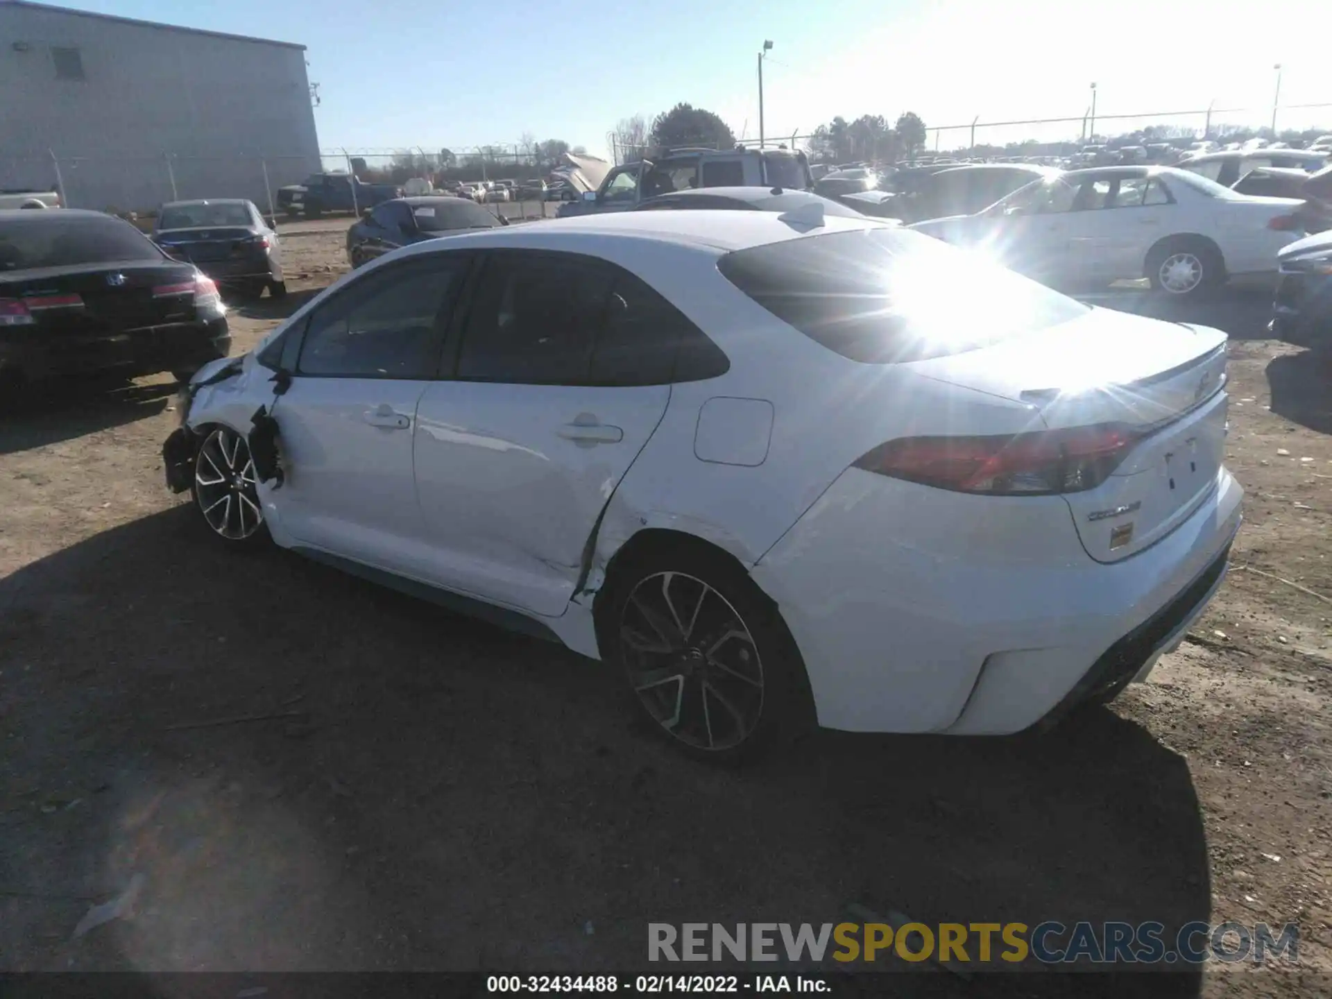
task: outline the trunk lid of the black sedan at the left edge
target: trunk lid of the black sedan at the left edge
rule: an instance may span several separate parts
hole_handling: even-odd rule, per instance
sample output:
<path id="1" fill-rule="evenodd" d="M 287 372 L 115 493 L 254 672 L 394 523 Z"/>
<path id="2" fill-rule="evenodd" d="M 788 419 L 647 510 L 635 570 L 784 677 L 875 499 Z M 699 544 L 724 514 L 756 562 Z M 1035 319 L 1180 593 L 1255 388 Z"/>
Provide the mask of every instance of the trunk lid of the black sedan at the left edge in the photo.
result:
<path id="1" fill-rule="evenodd" d="M 193 321 L 193 281 L 190 264 L 88 264 L 5 274 L 0 298 L 24 300 L 43 334 L 105 336 Z M 170 292 L 184 285 L 188 292 Z"/>

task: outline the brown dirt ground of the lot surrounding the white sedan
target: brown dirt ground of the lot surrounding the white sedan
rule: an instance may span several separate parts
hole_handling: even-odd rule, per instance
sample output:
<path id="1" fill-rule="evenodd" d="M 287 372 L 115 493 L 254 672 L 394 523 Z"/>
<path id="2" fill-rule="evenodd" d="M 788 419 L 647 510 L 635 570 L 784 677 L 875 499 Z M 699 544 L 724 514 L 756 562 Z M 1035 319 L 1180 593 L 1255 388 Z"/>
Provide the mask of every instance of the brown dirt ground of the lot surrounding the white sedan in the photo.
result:
<path id="1" fill-rule="evenodd" d="M 292 294 L 233 313 L 234 352 L 345 272 L 346 224 L 284 226 Z M 1237 570 L 1150 683 L 1043 737 L 821 733 L 746 770 L 683 759 L 555 646 L 214 550 L 163 486 L 168 377 L 52 392 L 0 425 L 0 968 L 633 968 L 647 922 L 859 902 L 1295 920 L 1332 975 L 1332 370 L 1265 316 L 1169 316 L 1232 336 L 1248 496 Z M 71 939 L 136 874 L 133 918 Z M 1332 982 L 1256 974 L 1155 982 Z"/>

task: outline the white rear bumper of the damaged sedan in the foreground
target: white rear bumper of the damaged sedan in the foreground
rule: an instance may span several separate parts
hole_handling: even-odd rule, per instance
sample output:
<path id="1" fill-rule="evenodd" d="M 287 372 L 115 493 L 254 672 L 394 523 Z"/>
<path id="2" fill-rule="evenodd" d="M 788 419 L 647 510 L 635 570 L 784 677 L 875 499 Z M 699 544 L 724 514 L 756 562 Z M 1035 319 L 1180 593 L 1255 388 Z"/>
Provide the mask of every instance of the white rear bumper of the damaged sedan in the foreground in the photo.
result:
<path id="1" fill-rule="evenodd" d="M 1215 591 L 1199 581 L 1219 585 L 1241 497 L 1221 469 L 1187 521 L 1102 565 L 1062 501 L 852 469 L 753 575 L 801 650 L 821 725 L 1007 734 L 1146 675 Z"/>

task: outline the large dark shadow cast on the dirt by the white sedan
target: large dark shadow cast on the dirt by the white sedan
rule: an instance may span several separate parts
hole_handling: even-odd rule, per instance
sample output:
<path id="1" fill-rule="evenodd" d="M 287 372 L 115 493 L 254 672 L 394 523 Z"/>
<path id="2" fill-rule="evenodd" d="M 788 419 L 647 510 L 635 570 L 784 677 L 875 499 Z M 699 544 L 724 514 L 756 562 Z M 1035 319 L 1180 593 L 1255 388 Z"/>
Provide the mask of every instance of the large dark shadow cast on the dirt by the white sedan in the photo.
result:
<path id="1" fill-rule="evenodd" d="M 9 970 L 642 968 L 649 922 L 835 923 L 851 902 L 1208 918 L 1185 763 L 1106 710 L 717 769 L 597 663 L 214 550 L 188 505 L 20 570 L 0 607 L 0 883 L 57 899 L 8 900 Z M 136 874 L 137 916 L 69 942 Z"/>

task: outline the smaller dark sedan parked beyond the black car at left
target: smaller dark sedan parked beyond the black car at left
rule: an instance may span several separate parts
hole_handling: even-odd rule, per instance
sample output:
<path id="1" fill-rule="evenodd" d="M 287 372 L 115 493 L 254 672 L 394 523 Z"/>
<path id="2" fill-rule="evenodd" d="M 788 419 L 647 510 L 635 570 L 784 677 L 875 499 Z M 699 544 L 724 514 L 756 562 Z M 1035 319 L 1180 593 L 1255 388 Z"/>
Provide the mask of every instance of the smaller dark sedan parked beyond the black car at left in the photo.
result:
<path id="1" fill-rule="evenodd" d="M 157 209 L 153 241 L 238 294 L 286 294 L 277 233 L 252 201 L 172 201 Z"/>

